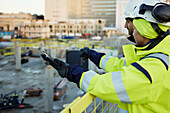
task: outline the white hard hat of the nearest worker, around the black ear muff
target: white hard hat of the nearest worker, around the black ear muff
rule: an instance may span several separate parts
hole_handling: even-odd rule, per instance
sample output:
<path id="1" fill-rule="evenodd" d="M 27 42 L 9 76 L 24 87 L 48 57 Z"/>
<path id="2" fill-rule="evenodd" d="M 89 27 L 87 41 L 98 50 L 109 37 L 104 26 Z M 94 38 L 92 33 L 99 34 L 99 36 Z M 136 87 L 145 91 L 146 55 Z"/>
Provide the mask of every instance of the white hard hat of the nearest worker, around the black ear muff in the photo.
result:
<path id="1" fill-rule="evenodd" d="M 139 17 L 139 18 L 143 18 L 149 22 L 153 22 L 153 23 L 160 23 L 160 24 L 163 24 L 163 25 L 168 25 L 170 26 L 170 22 L 165 22 L 165 23 L 162 23 L 158 20 L 156 20 L 153 15 L 152 15 L 152 11 L 151 10 L 146 10 L 144 12 L 144 14 L 140 14 L 140 9 L 141 9 L 141 5 L 144 4 L 144 5 L 148 5 L 148 6 L 155 6 L 156 4 L 165 4 L 165 2 L 163 0 L 143 0 L 143 2 L 140 2 L 140 4 L 138 4 L 137 7 L 135 7 L 135 9 L 133 10 L 133 13 L 131 15 L 131 18 L 136 18 L 136 17 Z"/>

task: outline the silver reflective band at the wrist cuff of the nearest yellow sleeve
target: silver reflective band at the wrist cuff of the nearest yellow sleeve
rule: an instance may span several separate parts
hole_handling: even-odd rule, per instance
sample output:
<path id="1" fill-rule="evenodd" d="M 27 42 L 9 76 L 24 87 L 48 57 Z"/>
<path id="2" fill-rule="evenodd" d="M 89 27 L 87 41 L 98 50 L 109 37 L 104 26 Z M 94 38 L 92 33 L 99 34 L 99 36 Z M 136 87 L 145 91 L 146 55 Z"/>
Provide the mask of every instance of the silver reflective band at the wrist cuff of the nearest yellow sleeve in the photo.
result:
<path id="1" fill-rule="evenodd" d="M 83 91 L 85 91 L 85 92 L 87 91 L 87 88 L 88 88 L 88 86 L 89 86 L 89 84 L 90 84 L 91 79 L 92 79 L 96 74 L 97 74 L 97 73 L 94 72 L 94 71 L 88 71 L 88 72 L 85 73 L 84 78 L 83 78 L 82 83 L 81 83 L 81 89 L 82 89 Z"/>

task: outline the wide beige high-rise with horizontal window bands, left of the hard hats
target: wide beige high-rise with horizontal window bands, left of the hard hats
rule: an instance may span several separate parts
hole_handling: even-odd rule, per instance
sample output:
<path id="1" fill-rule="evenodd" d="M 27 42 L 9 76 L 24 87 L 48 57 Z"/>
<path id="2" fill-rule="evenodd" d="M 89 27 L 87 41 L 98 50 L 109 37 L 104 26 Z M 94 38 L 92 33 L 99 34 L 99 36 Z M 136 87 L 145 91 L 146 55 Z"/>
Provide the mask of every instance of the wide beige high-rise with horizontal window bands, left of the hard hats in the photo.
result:
<path id="1" fill-rule="evenodd" d="M 105 19 L 115 26 L 116 0 L 46 0 L 45 19 Z"/>

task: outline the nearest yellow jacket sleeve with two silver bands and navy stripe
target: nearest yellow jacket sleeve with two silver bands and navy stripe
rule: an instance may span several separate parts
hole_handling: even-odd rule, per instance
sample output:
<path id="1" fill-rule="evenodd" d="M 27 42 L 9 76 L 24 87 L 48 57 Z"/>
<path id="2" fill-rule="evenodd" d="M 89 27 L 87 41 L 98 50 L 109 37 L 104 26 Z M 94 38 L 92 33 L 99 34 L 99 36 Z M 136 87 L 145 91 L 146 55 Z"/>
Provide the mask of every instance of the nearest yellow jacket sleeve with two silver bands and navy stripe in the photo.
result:
<path id="1" fill-rule="evenodd" d="M 80 89 L 112 103 L 145 104 L 157 101 L 166 75 L 165 65 L 159 59 L 146 58 L 123 67 L 122 71 L 103 75 L 84 72 L 79 85 Z"/>

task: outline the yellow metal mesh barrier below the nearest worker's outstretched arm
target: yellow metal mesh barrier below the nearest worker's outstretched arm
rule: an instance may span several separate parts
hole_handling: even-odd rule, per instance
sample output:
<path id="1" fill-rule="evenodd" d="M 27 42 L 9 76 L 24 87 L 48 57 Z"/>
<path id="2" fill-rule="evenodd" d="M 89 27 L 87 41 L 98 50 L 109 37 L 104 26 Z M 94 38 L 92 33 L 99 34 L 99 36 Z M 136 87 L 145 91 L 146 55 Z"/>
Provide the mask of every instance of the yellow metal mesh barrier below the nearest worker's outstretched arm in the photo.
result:
<path id="1" fill-rule="evenodd" d="M 97 99 L 99 98 L 86 93 L 83 97 L 77 97 L 61 113 L 118 113 L 118 107 L 115 104 L 101 99 L 97 102 Z"/>

